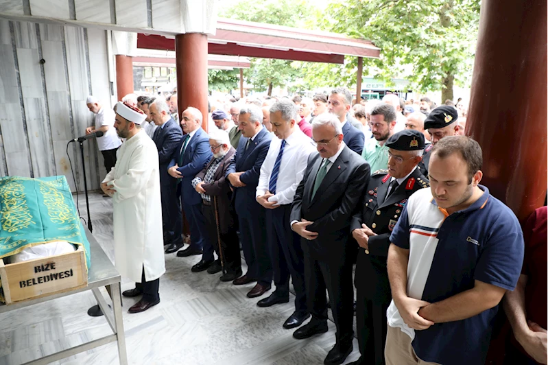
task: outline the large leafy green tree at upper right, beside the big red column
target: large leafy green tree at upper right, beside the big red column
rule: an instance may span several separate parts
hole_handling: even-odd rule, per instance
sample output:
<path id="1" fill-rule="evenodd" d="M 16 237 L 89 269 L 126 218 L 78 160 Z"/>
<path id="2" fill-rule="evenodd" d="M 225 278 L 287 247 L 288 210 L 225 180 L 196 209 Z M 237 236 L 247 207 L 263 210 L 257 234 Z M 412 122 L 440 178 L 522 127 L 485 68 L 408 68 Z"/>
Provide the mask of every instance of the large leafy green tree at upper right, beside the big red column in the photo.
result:
<path id="1" fill-rule="evenodd" d="M 327 30 L 372 40 L 379 60 L 364 59 L 389 81 L 403 77 L 417 91 L 467 85 L 479 23 L 479 0 L 335 0 L 326 11 Z"/>

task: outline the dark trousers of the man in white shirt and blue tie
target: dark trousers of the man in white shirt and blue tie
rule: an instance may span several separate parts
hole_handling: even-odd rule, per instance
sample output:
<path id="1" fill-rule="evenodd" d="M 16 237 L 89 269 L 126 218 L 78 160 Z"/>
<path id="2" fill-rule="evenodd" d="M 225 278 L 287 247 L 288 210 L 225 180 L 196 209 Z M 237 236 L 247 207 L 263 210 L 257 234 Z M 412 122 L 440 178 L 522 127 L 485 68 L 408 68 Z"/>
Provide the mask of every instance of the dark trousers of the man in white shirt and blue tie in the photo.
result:
<path id="1" fill-rule="evenodd" d="M 300 236 L 291 231 L 291 204 L 266 210 L 266 233 L 276 294 L 289 296 L 289 276 L 295 289 L 295 310 L 308 312 L 305 289 L 305 260 Z"/>

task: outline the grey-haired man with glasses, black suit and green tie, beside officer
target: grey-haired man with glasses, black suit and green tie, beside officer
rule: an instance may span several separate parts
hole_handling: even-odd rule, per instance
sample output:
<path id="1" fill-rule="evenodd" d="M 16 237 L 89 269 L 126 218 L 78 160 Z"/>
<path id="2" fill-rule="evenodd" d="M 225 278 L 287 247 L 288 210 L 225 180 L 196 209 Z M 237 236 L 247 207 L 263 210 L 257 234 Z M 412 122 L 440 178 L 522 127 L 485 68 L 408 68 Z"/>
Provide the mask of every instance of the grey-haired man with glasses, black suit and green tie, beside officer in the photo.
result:
<path id="1" fill-rule="evenodd" d="M 370 172 L 368 163 L 344 143 L 341 124 L 335 115 L 315 117 L 312 135 L 318 143 L 318 153 L 310 155 L 291 206 L 291 229 L 302 237 L 312 319 L 293 336 L 309 338 L 327 331 L 327 289 L 337 341 L 324 364 L 342 364 L 352 352 L 353 340 L 355 246 L 348 241 L 348 230 Z"/>

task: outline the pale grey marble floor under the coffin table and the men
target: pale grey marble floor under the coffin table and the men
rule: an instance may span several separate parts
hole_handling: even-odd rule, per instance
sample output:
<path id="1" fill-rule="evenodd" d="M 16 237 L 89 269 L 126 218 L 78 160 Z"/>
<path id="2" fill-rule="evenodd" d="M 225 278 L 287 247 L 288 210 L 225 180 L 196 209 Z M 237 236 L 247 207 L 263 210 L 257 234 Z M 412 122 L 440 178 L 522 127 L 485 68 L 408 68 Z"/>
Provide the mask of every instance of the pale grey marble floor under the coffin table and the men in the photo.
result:
<path id="1" fill-rule="evenodd" d="M 91 193 L 90 207 L 93 235 L 112 259 L 112 200 Z M 86 218 L 83 196 L 80 208 Z M 322 364 L 335 344 L 333 322 L 329 322 L 327 333 L 295 340 L 294 329 L 282 327 L 294 311 L 294 294 L 290 294 L 289 303 L 259 308 L 257 302 L 270 292 L 250 299 L 246 294 L 254 283 L 237 286 L 219 281 L 220 273 L 191 272 L 200 259 L 165 255 L 167 271 L 160 279 L 160 303 L 141 314 L 128 313 L 139 298 L 123 297 L 129 364 Z M 245 261 L 242 264 L 246 272 Z M 121 290 L 132 287 L 132 281 L 123 279 Z M 108 294 L 102 292 L 108 302 Z M 22 364 L 109 335 L 112 332 L 104 318 L 86 315 L 92 305 L 93 294 L 82 292 L 1 314 L 0 365 Z M 353 353 L 346 363 L 358 357 L 354 340 Z M 106 344 L 53 364 L 118 364 L 117 344 Z"/>

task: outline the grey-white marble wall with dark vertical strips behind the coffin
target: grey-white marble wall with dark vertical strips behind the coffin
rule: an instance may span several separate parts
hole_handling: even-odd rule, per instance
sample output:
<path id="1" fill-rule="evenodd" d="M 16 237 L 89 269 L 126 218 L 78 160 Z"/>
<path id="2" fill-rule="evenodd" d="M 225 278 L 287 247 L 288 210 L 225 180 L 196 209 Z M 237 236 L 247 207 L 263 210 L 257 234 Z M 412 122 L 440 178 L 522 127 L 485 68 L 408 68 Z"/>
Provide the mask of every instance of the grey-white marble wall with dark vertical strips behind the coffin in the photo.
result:
<path id="1" fill-rule="evenodd" d="M 75 181 L 67 143 L 93 124 L 90 93 L 110 108 L 109 82 L 106 31 L 0 20 L 0 176 L 64 175 L 82 191 L 80 150 L 69 147 Z M 84 142 L 88 189 L 106 174 L 98 152 Z"/>

